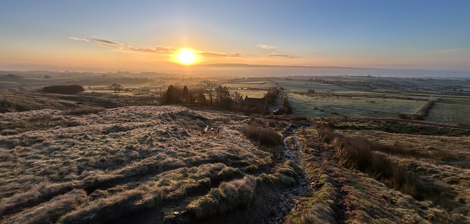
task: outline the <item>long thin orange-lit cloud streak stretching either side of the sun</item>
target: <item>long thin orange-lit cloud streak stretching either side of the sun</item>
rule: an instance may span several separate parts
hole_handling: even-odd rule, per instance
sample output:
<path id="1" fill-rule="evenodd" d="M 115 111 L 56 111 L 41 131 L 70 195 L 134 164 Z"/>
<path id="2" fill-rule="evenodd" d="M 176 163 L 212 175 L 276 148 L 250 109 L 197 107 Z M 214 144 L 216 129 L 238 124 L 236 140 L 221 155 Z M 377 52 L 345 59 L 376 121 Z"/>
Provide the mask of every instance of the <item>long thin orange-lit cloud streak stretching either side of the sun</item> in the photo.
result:
<path id="1" fill-rule="evenodd" d="M 135 48 L 132 45 L 124 44 L 121 42 L 104 40 L 104 39 L 96 39 L 96 38 L 87 38 L 87 37 L 69 37 L 73 40 L 82 40 L 88 42 L 95 42 L 98 46 L 107 47 L 107 48 L 114 48 L 119 49 L 122 51 L 131 51 L 131 52 L 139 52 L 139 53 L 149 53 L 149 54 L 159 54 L 159 55 L 173 55 L 177 54 L 182 48 L 176 47 L 155 47 L 155 48 Z M 197 53 L 204 57 L 210 58 L 220 58 L 220 57 L 242 57 L 239 53 L 222 53 L 222 52 L 210 52 L 210 51 L 199 51 L 194 50 L 194 53 Z"/>

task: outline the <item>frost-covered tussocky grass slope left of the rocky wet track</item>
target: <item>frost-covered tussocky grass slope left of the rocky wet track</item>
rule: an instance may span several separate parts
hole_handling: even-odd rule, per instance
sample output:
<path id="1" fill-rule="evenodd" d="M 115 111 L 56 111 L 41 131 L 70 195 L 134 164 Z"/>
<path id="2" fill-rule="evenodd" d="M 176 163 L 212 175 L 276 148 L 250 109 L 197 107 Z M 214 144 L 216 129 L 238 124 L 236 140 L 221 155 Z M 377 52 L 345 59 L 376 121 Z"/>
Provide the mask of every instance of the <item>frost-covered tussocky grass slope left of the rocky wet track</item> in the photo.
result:
<path id="1" fill-rule="evenodd" d="M 295 180 L 269 171 L 272 154 L 242 134 L 246 118 L 174 106 L 1 114 L 1 221 L 250 217 L 237 209 L 262 203 L 255 193 Z"/>

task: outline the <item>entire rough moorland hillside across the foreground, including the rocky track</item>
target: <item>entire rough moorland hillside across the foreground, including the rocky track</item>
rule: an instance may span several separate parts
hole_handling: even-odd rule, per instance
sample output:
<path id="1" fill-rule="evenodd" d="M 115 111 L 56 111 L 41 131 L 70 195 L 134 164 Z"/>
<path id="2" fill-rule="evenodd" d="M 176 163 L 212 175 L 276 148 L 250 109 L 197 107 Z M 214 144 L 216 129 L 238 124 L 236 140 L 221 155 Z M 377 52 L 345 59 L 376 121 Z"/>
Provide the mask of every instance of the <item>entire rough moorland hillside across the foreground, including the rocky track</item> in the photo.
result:
<path id="1" fill-rule="evenodd" d="M 466 125 L 10 94 L 1 223 L 470 223 Z"/>

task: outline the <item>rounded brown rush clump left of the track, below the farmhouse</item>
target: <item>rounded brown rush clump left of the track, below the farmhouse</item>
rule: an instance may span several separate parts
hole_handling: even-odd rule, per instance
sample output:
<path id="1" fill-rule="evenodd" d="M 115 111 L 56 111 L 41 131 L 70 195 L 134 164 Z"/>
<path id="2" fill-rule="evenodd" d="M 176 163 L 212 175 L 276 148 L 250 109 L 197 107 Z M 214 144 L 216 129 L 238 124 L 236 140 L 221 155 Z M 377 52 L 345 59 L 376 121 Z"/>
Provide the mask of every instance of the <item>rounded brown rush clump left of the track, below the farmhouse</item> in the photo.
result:
<path id="1" fill-rule="evenodd" d="M 260 145 L 276 146 L 283 142 L 282 137 L 278 132 L 271 128 L 262 128 L 255 125 L 250 125 L 243 129 L 243 134 L 253 141 L 257 141 Z"/>

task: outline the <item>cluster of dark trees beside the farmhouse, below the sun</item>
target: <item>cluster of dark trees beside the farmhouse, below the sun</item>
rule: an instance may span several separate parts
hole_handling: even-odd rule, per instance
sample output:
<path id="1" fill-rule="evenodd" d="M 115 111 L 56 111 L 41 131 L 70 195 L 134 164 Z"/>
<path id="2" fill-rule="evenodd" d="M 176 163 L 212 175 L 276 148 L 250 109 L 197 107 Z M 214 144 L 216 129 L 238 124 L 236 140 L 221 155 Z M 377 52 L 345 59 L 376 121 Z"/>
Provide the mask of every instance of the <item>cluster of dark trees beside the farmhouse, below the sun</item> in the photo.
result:
<path id="1" fill-rule="evenodd" d="M 227 86 L 215 81 L 204 80 L 195 88 L 189 89 L 186 85 L 168 86 L 166 103 L 189 103 L 201 105 L 214 105 L 225 109 L 241 110 L 244 104 L 243 96 L 237 92 L 231 92 Z"/>

